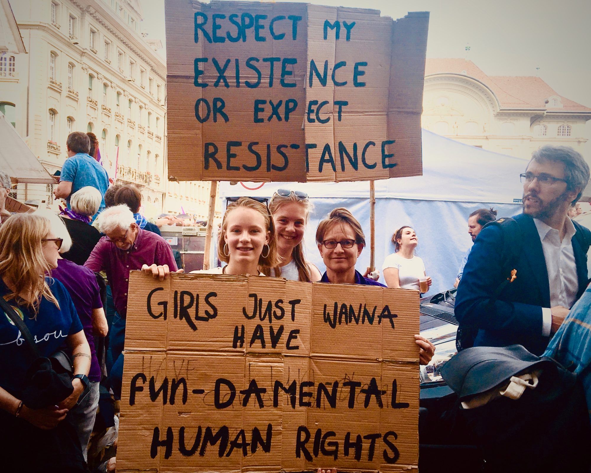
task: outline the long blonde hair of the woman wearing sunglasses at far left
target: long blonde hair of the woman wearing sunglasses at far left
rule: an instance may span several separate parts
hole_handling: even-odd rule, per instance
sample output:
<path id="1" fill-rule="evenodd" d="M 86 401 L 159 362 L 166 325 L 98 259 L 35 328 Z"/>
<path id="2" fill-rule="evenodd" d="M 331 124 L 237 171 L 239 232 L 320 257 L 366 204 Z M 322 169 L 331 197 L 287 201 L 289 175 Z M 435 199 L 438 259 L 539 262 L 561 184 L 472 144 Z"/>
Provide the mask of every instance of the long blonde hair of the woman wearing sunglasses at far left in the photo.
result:
<path id="1" fill-rule="evenodd" d="M 51 267 L 43 254 L 41 239 L 50 232 L 49 219 L 36 213 L 16 213 L 0 227 L 0 277 L 14 287 L 7 300 L 24 303 L 35 315 L 42 297 L 60 307 L 45 280 Z M 33 300 L 25 300 L 20 294 L 33 296 Z"/>

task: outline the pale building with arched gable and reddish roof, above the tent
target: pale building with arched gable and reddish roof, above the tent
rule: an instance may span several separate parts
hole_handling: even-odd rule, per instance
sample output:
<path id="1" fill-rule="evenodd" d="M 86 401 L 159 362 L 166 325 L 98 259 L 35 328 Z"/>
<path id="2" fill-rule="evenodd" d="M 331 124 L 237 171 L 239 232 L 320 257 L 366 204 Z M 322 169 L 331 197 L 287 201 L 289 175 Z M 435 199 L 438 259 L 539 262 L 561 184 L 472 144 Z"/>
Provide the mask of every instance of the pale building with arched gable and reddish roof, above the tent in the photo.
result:
<path id="1" fill-rule="evenodd" d="M 540 77 L 487 76 L 472 61 L 427 59 L 423 128 L 485 150 L 529 159 L 544 144 L 579 149 L 591 109 Z"/>

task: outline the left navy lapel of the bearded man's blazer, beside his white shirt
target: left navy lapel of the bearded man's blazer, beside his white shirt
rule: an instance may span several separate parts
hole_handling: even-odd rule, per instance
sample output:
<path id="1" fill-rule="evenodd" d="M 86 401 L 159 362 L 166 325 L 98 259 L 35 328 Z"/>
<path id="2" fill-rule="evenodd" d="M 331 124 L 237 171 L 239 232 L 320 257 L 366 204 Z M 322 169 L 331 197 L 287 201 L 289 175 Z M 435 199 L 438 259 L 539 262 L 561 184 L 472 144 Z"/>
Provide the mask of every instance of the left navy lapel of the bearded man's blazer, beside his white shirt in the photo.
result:
<path id="1" fill-rule="evenodd" d="M 542 250 L 540 234 L 535 227 L 534 219 L 529 215 L 521 214 L 514 217 L 521 228 L 523 245 L 522 251 L 530 263 L 535 286 L 540 291 L 541 306 L 550 307 L 550 283 L 548 283 L 548 270 Z M 519 277 L 519 275 L 517 275 Z"/>

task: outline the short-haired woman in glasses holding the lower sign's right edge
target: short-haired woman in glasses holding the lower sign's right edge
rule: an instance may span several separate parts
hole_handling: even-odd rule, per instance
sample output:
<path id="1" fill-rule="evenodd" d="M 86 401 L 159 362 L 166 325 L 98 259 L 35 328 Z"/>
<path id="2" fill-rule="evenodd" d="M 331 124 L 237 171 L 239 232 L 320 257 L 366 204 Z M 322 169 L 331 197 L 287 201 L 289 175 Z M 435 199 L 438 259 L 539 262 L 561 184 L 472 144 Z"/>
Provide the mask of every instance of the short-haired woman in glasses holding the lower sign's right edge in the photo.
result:
<path id="1" fill-rule="evenodd" d="M 319 223 L 316 230 L 316 244 L 326 265 L 321 283 L 362 284 L 363 286 L 384 286 L 363 277 L 355 270 L 357 258 L 365 247 L 365 235 L 357 219 L 344 208 L 330 212 L 328 218 Z M 426 338 L 415 335 L 419 346 L 419 362 L 426 365 L 433 358 L 435 346 Z"/>

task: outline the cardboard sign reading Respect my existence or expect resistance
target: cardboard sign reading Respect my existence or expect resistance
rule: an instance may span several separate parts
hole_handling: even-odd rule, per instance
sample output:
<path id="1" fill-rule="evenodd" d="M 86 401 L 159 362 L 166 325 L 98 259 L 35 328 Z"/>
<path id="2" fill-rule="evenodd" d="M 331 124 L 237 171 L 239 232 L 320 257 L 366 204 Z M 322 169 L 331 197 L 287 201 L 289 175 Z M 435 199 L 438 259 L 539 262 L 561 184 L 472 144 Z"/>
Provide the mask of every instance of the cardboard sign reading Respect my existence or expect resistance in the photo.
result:
<path id="1" fill-rule="evenodd" d="M 418 176 L 428 13 L 166 0 L 178 180 Z"/>

